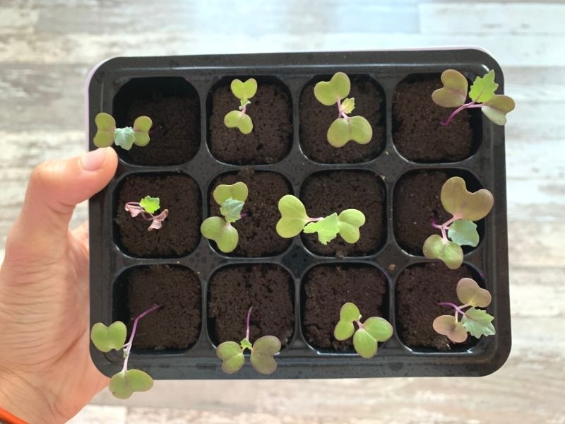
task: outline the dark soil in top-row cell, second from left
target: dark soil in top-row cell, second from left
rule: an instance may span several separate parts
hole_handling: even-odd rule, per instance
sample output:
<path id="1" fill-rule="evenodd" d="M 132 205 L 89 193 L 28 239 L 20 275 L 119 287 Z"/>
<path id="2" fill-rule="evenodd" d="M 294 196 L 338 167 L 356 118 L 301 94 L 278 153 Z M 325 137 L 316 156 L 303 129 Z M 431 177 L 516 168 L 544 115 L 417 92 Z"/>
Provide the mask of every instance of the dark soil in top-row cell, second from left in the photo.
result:
<path id="1" fill-rule="evenodd" d="M 251 134 L 227 128 L 227 112 L 238 110 L 239 99 L 230 89 L 230 80 L 220 83 L 210 94 L 209 147 L 212 155 L 225 163 L 259 165 L 279 162 L 292 146 L 292 102 L 280 83 L 258 81 L 257 93 L 249 99 L 246 113 L 253 120 Z"/>

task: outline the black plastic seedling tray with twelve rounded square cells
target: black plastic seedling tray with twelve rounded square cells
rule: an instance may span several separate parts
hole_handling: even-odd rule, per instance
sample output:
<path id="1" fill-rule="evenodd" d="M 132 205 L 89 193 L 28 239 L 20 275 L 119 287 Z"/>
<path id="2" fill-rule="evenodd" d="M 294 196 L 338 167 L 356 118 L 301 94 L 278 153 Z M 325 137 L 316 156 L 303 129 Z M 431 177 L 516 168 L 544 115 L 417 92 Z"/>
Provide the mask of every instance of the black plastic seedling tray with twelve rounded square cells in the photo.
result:
<path id="1" fill-rule="evenodd" d="M 114 285 L 127 269 L 142 265 L 172 264 L 186 266 L 201 281 L 201 331 L 198 341 L 185 351 L 133 351 L 129 364 L 145 370 L 155 379 L 222 379 L 222 378 L 335 378 L 335 377 L 415 377 L 415 376 L 480 376 L 499 369 L 511 348 L 509 314 L 508 247 L 506 239 L 506 175 L 504 162 L 504 127 L 481 117 L 481 140 L 474 154 L 455 163 L 413 163 L 396 150 L 392 136 L 393 90 L 404 78 L 415 74 L 439 74 L 453 68 L 468 78 L 482 76 L 489 69 L 496 71 L 496 81 L 504 89 L 499 65 L 479 49 L 439 49 L 419 51 L 331 52 L 293 54 L 238 54 L 182 57 L 135 57 L 105 61 L 93 70 L 88 82 L 89 148 L 93 150 L 94 118 L 98 112 L 112 114 L 114 95 L 131 78 L 175 76 L 185 78 L 200 100 L 201 143 L 196 156 L 182 165 L 140 166 L 124 158 L 108 186 L 90 201 L 90 321 L 109 324 L 116 319 Z M 382 88 L 386 114 L 386 146 L 374 159 L 365 163 L 323 164 L 307 158 L 299 140 L 299 96 L 304 86 L 317 76 L 331 76 L 336 71 L 373 78 Z M 202 217 L 209 216 L 207 196 L 210 183 L 218 175 L 239 170 L 210 154 L 208 137 L 208 94 L 222 78 L 252 76 L 277 78 L 292 99 L 293 139 L 290 153 L 273 165 L 254 165 L 256 170 L 269 170 L 283 175 L 299 194 L 302 182 L 314 172 L 324 170 L 369 170 L 381 176 L 386 187 L 386 243 L 376 254 L 367 257 L 323 257 L 304 247 L 295 237 L 290 247 L 275 257 L 245 258 L 220 254 L 201 237 L 196 249 L 184 257 L 142 259 L 125 254 L 119 247 L 114 227 L 117 215 L 115 191 L 125 177 L 137 173 L 157 175 L 162 172 L 184 172 L 197 183 L 202 194 Z M 501 91 L 499 91 L 501 92 Z M 447 113 L 447 110 L 446 110 Z M 482 114 L 481 114 L 482 116 Z M 395 284 L 406 266 L 429 262 L 424 257 L 406 253 L 396 242 L 393 231 L 393 190 L 398 179 L 413 170 L 448 170 L 475 176 L 482 187 L 494 194 L 492 212 L 484 220 L 480 245 L 465 254 L 465 264 L 484 279 L 492 293 L 489 313 L 493 314 L 496 335 L 480 338 L 468 348 L 449 352 L 412 350 L 405 346 L 396 331 Z M 166 225 L 166 224 L 165 224 Z M 294 281 L 295 329 L 290 343 L 278 355 L 278 370 L 265 377 L 246 365 L 237 374 L 225 375 L 215 355 L 215 346 L 208 328 L 208 280 L 215 271 L 228 264 L 278 264 Z M 302 278 L 318 264 L 370 264 L 386 276 L 388 288 L 383 302 L 383 315 L 395 327 L 395 334 L 379 347 L 379 354 L 365 360 L 353 353 L 319 351 L 309 346 L 302 328 Z M 448 269 L 446 269 L 448 272 Z M 447 313 L 447 312 L 446 312 Z M 121 367 L 121 355 L 115 351 L 103 354 L 91 350 L 97 367 L 112 375 Z"/>

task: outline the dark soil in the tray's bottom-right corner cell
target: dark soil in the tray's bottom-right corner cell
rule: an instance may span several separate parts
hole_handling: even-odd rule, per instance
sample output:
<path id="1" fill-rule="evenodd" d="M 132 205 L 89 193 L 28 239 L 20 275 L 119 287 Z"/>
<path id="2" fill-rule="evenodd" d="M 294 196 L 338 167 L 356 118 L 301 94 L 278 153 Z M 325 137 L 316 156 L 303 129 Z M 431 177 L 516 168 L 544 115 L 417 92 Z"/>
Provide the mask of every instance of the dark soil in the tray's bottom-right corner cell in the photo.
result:
<path id="1" fill-rule="evenodd" d="M 456 287 L 461 278 L 476 277 L 465 264 L 450 270 L 441 262 L 410 266 L 400 273 L 396 281 L 396 329 L 406 346 L 450 351 L 453 346 L 471 346 L 477 340 L 469 336 L 464 343 L 453 343 L 432 327 L 436 317 L 453 313 L 438 302 L 460 305 Z"/>

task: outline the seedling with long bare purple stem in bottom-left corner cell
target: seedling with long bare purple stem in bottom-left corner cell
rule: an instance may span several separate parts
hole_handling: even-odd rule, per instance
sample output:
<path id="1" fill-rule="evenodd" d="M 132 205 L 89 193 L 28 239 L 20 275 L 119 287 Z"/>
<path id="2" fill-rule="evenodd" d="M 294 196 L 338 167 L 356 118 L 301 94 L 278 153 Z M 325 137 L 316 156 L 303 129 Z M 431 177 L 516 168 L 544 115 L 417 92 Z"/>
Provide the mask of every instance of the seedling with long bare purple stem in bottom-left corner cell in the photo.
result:
<path id="1" fill-rule="evenodd" d="M 160 305 L 153 305 L 145 312 L 139 314 L 133 320 L 131 335 L 126 343 L 127 329 L 126 324 L 121 321 L 113 322 L 110 326 L 105 326 L 102 322 L 97 322 L 90 330 L 90 340 L 101 352 L 124 351 L 124 367 L 120 372 L 114 374 L 109 382 L 109 390 L 118 399 L 128 399 L 134 391 L 148 391 L 153 387 L 153 379 L 147 372 L 141 370 L 128 370 L 129 354 L 133 346 L 133 338 L 136 336 L 136 329 L 139 320 L 153 311 L 160 308 Z"/>

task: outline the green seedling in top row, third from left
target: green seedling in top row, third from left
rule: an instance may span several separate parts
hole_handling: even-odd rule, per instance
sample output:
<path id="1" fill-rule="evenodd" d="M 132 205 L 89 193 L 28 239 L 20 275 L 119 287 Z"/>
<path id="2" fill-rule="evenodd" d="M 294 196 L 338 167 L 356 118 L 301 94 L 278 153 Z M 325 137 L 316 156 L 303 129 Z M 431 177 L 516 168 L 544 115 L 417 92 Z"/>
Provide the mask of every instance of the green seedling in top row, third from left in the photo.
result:
<path id="1" fill-rule="evenodd" d="M 367 119 L 348 116 L 355 109 L 355 98 L 347 98 L 350 90 L 349 77 L 343 72 L 335 73 L 330 81 L 320 81 L 314 86 L 314 96 L 322 105 L 338 104 L 338 118 L 328 129 L 328 142 L 333 147 L 343 147 L 350 141 L 367 144 L 373 137 L 373 129 Z"/>

